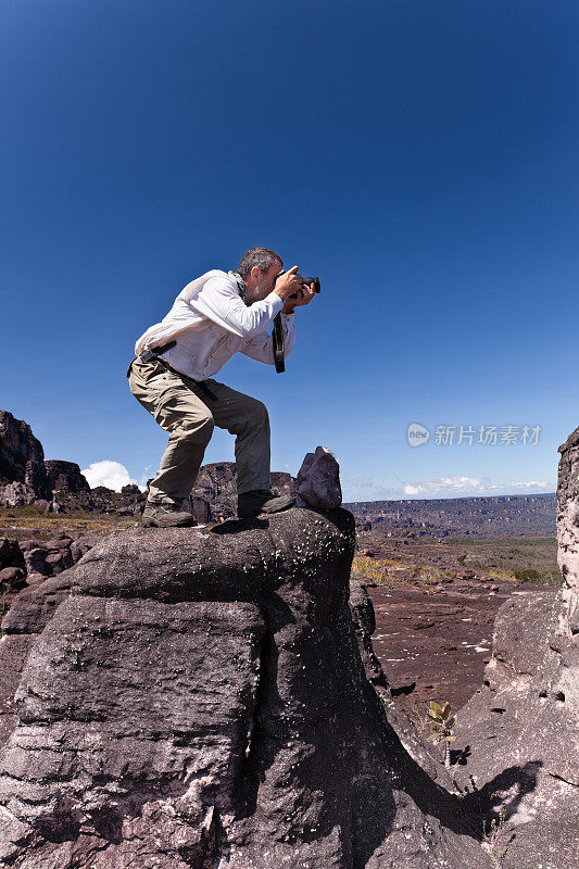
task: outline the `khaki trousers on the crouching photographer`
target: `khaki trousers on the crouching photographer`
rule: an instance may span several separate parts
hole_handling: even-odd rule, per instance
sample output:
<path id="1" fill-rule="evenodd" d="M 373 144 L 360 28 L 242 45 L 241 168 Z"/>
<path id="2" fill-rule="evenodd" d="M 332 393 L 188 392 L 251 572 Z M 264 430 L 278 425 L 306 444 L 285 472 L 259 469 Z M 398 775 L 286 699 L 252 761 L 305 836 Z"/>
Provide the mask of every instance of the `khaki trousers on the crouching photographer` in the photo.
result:
<path id="1" fill-rule="evenodd" d="M 193 380 L 167 370 L 156 360 L 130 365 L 130 391 L 168 431 L 168 445 L 152 481 L 149 500 L 179 502 L 190 493 L 214 426 L 236 436 L 237 491 L 269 489 L 269 417 L 265 404 L 242 392 L 204 380 L 216 401 Z"/>

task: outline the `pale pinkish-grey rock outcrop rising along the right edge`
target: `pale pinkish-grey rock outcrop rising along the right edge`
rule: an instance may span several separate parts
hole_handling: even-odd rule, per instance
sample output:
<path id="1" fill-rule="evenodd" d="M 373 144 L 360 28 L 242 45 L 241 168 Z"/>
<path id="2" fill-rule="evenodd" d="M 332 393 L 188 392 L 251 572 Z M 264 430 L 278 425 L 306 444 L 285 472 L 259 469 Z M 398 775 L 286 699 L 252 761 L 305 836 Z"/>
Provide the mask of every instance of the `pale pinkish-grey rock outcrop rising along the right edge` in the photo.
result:
<path id="1" fill-rule="evenodd" d="M 455 767 L 499 818 L 517 869 L 579 866 L 579 428 L 559 448 L 561 591 L 517 592 L 499 610 L 482 691 L 458 715 Z"/>

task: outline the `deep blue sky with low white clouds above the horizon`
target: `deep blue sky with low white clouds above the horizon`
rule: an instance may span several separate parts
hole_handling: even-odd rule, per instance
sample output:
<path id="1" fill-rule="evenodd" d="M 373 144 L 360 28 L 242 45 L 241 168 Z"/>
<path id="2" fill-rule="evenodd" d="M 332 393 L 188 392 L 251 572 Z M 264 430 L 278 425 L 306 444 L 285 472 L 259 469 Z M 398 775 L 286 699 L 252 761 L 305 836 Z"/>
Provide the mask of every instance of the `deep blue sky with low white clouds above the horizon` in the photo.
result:
<path id="1" fill-rule="evenodd" d="M 0 406 L 47 457 L 151 476 L 134 342 L 263 244 L 322 278 L 285 374 L 216 377 L 267 404 L 273 469 L 319 443 L 345 500 L 553 491 L 579 424 L 578 37 L 544 0 L 2 3 Z M 205 461 L 232 449 L 216 430 Z"/>

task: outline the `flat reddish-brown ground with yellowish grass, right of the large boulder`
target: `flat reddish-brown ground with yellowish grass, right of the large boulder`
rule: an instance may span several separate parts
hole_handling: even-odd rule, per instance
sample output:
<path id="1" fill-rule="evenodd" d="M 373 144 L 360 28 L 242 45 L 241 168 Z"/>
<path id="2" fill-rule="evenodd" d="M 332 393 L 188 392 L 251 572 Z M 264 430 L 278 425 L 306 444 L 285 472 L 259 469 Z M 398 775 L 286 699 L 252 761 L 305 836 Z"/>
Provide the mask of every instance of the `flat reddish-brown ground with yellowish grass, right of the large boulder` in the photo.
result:
<path id="1" fill-rule="evenodd" d="M 460 709 L 482 683 L 499 607 L 558 588 L 556 537 L 386 537 L 358 521 L 353 576 L 376 613 L 373 644 L 397 704 L 421 729 L 430 700 Z"/>

